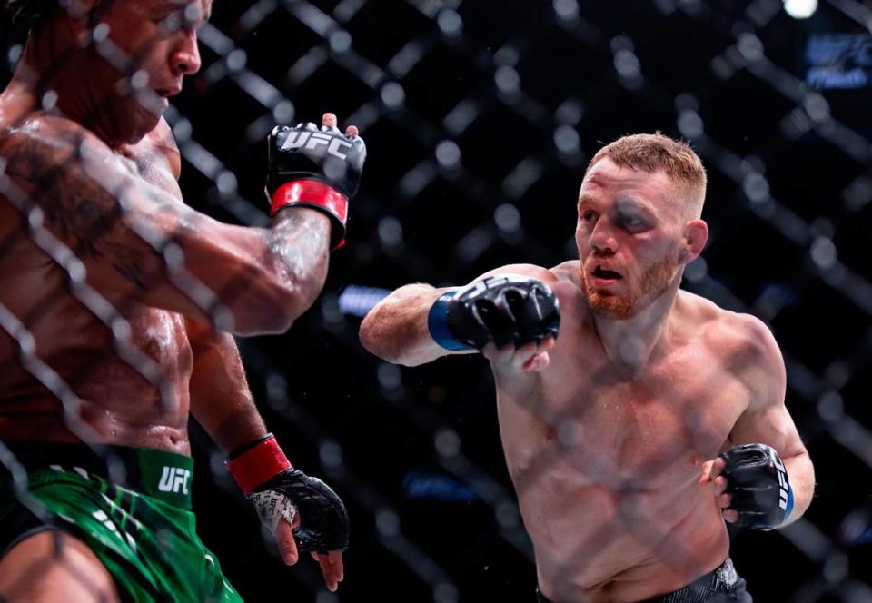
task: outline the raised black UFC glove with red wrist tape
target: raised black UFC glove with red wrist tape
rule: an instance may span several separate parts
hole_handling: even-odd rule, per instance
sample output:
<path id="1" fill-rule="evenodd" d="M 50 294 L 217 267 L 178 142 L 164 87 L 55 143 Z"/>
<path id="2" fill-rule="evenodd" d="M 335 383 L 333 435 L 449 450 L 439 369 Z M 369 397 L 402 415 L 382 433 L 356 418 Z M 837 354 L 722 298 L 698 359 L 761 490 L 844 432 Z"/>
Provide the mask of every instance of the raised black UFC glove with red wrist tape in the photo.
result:
<path id="1" fill-rule="evenodd" d="M 332 222 L 331 248 L 342 245 L 348 200 L 357 193 L 366 159 L 360 136 L 311 122 L 277 125 L 268 139 L 266 193 L 270 215 L 302 205 L 326 213 Z"/>

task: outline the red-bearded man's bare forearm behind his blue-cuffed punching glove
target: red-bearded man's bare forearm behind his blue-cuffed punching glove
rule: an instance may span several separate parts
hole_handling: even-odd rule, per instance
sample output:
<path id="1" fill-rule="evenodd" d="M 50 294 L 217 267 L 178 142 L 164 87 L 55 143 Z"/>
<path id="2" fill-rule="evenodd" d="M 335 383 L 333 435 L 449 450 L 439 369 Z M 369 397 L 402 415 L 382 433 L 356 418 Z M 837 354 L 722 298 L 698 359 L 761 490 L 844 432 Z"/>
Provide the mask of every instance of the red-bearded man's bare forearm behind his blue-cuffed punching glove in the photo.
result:
<path id="1" fill-rule="evenodd" d="M 433 302 L 445 291 L 418 283 L 392 292 L 363 318 L 363 347 L 383 360 L 406 366 L 451 353 L 433 341 L 427 321 Z"/>

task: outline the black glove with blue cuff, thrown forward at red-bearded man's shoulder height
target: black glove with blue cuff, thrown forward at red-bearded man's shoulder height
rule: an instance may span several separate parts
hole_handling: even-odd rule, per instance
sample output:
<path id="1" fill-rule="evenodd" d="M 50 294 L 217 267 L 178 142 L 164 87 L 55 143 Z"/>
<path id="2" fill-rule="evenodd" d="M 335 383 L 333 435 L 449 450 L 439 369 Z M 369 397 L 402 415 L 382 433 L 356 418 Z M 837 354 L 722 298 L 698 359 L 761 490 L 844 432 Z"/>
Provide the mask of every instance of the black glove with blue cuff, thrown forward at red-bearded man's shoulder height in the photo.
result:
<path id="1" fill-rule="evenodd" d="M 560 309 L 544 282 L 518 274 L 498 274 L 447 292 L 428 317 L 434 341 L 448 350 L 481 350 L 493 341 L 516 348 L 557 338 Z"/>

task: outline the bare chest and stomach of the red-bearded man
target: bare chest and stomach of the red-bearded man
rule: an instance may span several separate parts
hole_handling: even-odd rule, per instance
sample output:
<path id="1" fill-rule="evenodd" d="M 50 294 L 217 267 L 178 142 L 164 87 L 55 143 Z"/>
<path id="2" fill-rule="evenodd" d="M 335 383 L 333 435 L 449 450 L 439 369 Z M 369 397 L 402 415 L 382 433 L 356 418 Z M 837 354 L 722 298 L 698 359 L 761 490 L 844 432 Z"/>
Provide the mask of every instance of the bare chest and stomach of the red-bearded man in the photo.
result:
<path id="1" fill-rule="evenodd" d="M 662 353 L 609 360 L 578 284 L 551 271 L 560 337 L 533 381 L 496 374 L 503 448 L 540 588 L 555 601 L 634 601 L 717 568 L 728 533 L 701 465 L 746 410 L 736 315 L 679 292 Z"/>

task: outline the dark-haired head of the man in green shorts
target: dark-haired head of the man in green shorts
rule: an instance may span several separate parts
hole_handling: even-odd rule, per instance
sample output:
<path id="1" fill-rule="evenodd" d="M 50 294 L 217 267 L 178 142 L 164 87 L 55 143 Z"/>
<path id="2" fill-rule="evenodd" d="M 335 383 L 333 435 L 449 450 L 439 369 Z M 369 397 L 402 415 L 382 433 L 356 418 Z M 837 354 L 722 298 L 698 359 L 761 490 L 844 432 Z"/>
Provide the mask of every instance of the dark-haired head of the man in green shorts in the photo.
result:
<path id="1" fill-rule="evenodd" d="M 25 59 L 61 110 L 104 139 L 135 143 L 200 69 L 212 0 L 5 0 L 29 28 Z"/>

